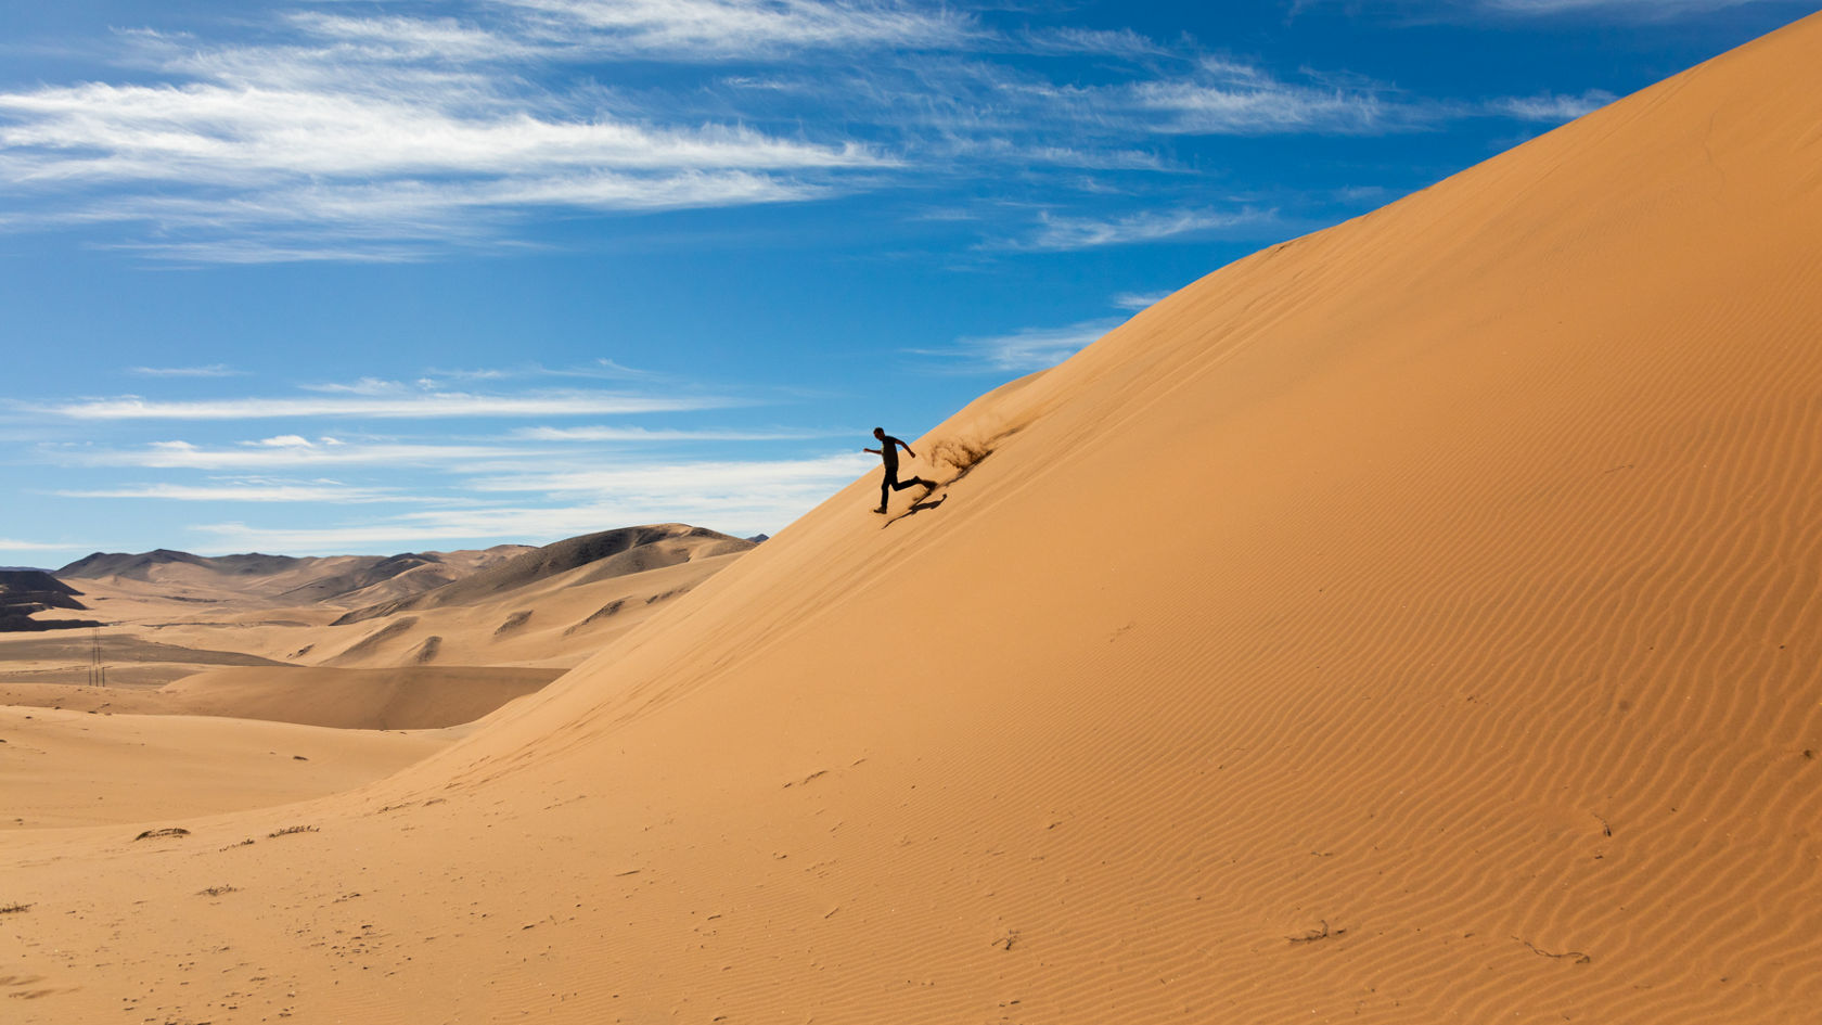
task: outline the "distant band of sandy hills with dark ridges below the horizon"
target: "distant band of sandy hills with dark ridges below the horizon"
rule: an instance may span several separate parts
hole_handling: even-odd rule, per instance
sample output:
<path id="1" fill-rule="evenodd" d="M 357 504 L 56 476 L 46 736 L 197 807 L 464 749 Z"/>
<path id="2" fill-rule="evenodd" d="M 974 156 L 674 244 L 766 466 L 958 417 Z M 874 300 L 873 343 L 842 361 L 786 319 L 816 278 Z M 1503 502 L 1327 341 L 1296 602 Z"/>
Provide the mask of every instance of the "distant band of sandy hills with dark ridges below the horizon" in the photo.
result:
<path id="1" fill-rule="evenodd" d="M 537 549 L 497 545 L 384 560 L 148 553 L 89 556 L 75 565 L 102 575 L 82 585 L 86 600 L 113 624 L 102 631 L 109 682 L 160 684 L 210 662 L 186 660 L 182 649 L 337 668 L 568 668 L 751 549 L 751 542 L 701 527 L 658 523 Z M 419 562 L 425 558 L 434 562 Z M 215 567 L 228 560 L 241 573 Z M 140 571 L 153 578 L 131 576 Z M 454 580 L 432 589 L 448 573 Z M 355 587 L 368 576 L 379 580 Z M 364 604 L 372 600 L 379 604 Z M 40 613 L 49 615 L 58 613 Z M 0 682 L 87 677 L 87 631 L 64 638 L 69 655 L 62 662 L 15 658 L 11 644 L 0 638 Z"/>

